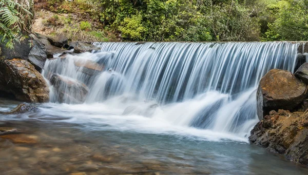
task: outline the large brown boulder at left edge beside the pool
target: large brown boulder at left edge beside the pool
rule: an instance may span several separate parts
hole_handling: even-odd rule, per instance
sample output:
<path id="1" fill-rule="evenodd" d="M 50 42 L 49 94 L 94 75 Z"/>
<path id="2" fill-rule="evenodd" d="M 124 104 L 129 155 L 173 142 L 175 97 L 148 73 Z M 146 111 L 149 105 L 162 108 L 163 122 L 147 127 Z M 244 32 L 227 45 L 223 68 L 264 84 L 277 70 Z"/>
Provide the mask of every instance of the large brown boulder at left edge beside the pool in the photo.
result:
<path id="1" fill-rule="evenodd" d="M 25 102 L 49 101 L 44 77 L 26 60 L 0 59 L 0 91 L 11 93 L 17 100 Z"/>

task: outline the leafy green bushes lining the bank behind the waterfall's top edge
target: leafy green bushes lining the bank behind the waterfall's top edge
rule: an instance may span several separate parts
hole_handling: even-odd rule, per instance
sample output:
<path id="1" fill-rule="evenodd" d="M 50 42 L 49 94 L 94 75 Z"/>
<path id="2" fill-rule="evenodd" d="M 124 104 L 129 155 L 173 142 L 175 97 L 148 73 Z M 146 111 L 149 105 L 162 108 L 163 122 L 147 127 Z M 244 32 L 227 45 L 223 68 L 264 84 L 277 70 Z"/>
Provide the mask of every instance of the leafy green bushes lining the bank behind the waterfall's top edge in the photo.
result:
<path id="1" fill-rule="evenodd" d="M 77 13 L 124 41 L 308 40 L 306 0 L 36 1 Z"/>

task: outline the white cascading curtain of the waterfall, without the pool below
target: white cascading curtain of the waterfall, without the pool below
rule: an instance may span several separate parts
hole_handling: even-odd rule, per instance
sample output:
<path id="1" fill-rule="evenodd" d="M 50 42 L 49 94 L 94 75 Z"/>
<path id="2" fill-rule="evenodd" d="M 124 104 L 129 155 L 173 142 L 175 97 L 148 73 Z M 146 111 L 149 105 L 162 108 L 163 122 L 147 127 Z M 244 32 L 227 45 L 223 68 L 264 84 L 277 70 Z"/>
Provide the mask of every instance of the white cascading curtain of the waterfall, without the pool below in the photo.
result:
<path id="1" fill-rule="evenodd" d="M 101 51 L 48 60 L 45 77 L 57 73 L 85 83 L 86 104 L 125 106 L 123 117 L 142 115 L 241 138 L 258 121 L 259 80 L 273 68 L 292 71 L 298 48 L 290 42 L 94 45 Z M 75 64 L 88 61 L 104 71 L 93 74 Z"/>

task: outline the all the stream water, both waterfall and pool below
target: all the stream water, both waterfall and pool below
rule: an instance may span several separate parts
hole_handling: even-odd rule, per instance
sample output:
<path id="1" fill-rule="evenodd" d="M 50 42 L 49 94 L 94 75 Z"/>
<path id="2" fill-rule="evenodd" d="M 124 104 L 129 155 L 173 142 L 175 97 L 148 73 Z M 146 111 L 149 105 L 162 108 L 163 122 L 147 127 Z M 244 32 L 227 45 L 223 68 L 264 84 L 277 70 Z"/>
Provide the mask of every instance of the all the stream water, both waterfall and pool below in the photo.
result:
<path id="1" fill-rule="evenodd" d="M 22 147 L 0 140 L 2 172 L 308 173 L 248 144 L 249 131 L 258 122 L 259 80 L 273 68 L 293 71 L 299 44 L 94 45 L 101 50 L 47 60 L 43 72 L 47 80 L 56 73 L 86 84 L 85 103 L 57 103 L 50 86 L 51 102 L 38 105 L 40 111 L 1 116 L 0 127 L 21 128 L 35 138 L 34 146 Z M 93 63 L 103 71 L 87 66 Z M 3 100 L 0 109 L 15 104 Z"/>

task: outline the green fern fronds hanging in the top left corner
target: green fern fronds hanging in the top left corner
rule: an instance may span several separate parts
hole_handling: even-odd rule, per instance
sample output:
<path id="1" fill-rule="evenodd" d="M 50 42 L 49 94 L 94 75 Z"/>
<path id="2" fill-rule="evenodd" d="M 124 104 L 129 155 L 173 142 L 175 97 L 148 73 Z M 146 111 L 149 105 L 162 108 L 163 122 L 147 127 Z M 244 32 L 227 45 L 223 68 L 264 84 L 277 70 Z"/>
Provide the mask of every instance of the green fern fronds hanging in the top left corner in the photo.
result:
<path id="1" fill-rule="evenodd" d="M 32 15 L 22 5 L 13 0 L 0 1 L 0 43 L 12 49 L 14 42 L 20 42 L 23 31 L 27 31 L 25 21 Z"/>

